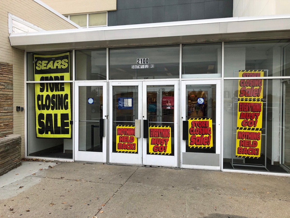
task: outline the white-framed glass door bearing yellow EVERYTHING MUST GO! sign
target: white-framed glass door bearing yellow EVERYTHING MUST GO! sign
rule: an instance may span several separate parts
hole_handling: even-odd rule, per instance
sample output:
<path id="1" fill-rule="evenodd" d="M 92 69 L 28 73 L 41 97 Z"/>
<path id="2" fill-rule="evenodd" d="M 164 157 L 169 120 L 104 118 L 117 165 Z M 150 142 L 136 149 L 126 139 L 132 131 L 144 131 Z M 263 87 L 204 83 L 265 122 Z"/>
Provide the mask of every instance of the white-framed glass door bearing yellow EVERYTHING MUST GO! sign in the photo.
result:
<path id="1" fill-rule="evenodd" d="M 143 165 L 177 167 L 178 112 L 178 81 L 143 82 Z"/>

